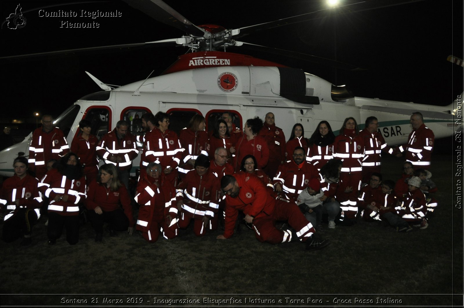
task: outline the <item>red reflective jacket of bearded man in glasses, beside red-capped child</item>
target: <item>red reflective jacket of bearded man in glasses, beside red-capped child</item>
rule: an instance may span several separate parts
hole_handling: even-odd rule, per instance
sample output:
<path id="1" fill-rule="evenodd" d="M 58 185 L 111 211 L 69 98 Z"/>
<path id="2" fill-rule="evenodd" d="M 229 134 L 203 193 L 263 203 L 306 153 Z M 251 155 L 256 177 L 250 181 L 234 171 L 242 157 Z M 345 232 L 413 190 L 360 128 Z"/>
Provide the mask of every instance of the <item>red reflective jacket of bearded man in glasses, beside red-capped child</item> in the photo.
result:
<path id="1" fill-rule="evenodd" d="M 292 201 L 296 201 L 298 195 L 307 187 L 309 180 L 312 178 L 320 179 L 316 167 L 307 161 L 303 161 L 298 166 L 291 160 L 279 166 L 273 181 L 274 186 L 280 183 L 285 195 Z"/>

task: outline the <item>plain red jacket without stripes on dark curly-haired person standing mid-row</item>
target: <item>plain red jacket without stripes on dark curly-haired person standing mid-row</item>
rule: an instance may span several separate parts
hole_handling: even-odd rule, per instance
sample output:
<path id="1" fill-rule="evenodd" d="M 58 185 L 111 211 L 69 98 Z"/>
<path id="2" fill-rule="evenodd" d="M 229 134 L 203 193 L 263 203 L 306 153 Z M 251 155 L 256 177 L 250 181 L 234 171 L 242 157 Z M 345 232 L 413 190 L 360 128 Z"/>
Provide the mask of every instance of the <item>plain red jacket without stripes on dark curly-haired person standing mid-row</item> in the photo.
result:
<path id="1" fill-rule="evenodd" d="M 267 148 L 266 141 L 260 136 L 255 136 L 253 139 L 247 140 L 246 135 L 243 134 L 242 137 L 235 142 L 235 156 L 233 157 L 233 167 L 235 171 L 240 169 L 242 159 L 248 154 L 256 158 L 258 166 L 255 167 L 258 169 L 264 168 L 269 160 L 269 148 Z"/>

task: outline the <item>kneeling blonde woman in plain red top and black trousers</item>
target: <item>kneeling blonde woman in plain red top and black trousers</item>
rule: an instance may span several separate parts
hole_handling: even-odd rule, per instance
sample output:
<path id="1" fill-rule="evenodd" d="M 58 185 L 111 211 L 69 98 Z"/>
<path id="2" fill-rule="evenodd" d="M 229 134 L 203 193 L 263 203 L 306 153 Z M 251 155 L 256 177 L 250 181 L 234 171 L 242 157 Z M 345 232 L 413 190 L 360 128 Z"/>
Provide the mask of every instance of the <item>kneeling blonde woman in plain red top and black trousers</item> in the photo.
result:
<path id="1" fill-rule="evenodd" d="M 132 205 L 126 186 L 118 178 L 115 165 L 104 164 L 100 168 L 100 178 L 90 183 L 86 201 L 89 220 L 96 232 L 96 242 L 102 241 L 105 222 L 109 225 L 112 237 L 117 235 L 116 231 L 125 230 L 132 235 L 135 224 Z"/>

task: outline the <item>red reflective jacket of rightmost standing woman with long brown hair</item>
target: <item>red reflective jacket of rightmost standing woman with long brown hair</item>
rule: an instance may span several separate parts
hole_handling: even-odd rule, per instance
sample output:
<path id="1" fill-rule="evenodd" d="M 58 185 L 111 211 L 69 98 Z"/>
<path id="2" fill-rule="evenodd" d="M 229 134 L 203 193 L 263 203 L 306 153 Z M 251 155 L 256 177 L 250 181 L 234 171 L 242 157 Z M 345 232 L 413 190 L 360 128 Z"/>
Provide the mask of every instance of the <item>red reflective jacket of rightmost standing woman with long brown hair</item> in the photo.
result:
<path id="1" fill-rule="evenodd" d="M 336 136 L 333 155 L 334 158 L 341 159 L 343 161 L 342 172 L 361 173 L 361 160 L 364 158 L 363 139 L 360 136 Z"/>

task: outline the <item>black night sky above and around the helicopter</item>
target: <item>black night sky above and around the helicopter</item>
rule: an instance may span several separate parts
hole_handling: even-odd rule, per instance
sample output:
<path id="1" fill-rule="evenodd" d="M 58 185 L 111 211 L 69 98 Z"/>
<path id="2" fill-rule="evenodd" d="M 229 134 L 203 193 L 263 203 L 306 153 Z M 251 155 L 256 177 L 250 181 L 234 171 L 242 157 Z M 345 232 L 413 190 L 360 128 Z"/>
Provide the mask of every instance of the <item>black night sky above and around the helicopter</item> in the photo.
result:
<path id="1" fill-rule="evenodd" d="M 251 26 L 309 13 L 324 8 L 320 0 L 267 1 L 166 1 L 193 24 L 218 24 L 226 28 Z M 354 3 L 359 1 L 342 1 Z M 239 40 L 298 51 L 353 64 L 364 71 L 342 71 L 257 51 L 235 48 L 323 77 L 337 85 L 346 84 L 355 96 L 379 97 L 414 103 L 447 105 L 463 90 L 463 68 L 446 61 L 448 55 L 463 58 L 463 3 L 451 0 L 371 0 L 351 6 L 352 13 L 334 10 L 317 14 L 317 19 L 260 31 Z M 67 2 L 59 2 L 65 4 Z M 69 2 L 71 3 L 71 2 Z M 77 3 L 77 2 L 74 2 Z M 14 12 L 18 2 L 2 3 L 2 18 Z M 79 2 L 54 7 L 57 2 L 20 2 L 27 19 L 21 29 L 1 28 L 1 56 L 147 42 L 178 38 L 179 29 L 151 19 L 123 1 Z M 122 17 L 39 17 L 63 10 L 114 12 Z M 29 11 L 29 12 L 26 12 Z M 346 11 L 346 10 L 345 10 Z M 98 22 L 99 28 L 60 28 L 61 20 Z M 100 88 L 84 73 L 89 71 L 104 83 L 124 85 L 164 71 L 187 50 L 181 47 L 77 53 L 21 61 L 0 60 L 3 72 L 2 106 L 6 115 L 31 116 L 33 111 L 59 115 L 80 97 Z M 232 50 L 231 50 L 232 51 Z"/>

